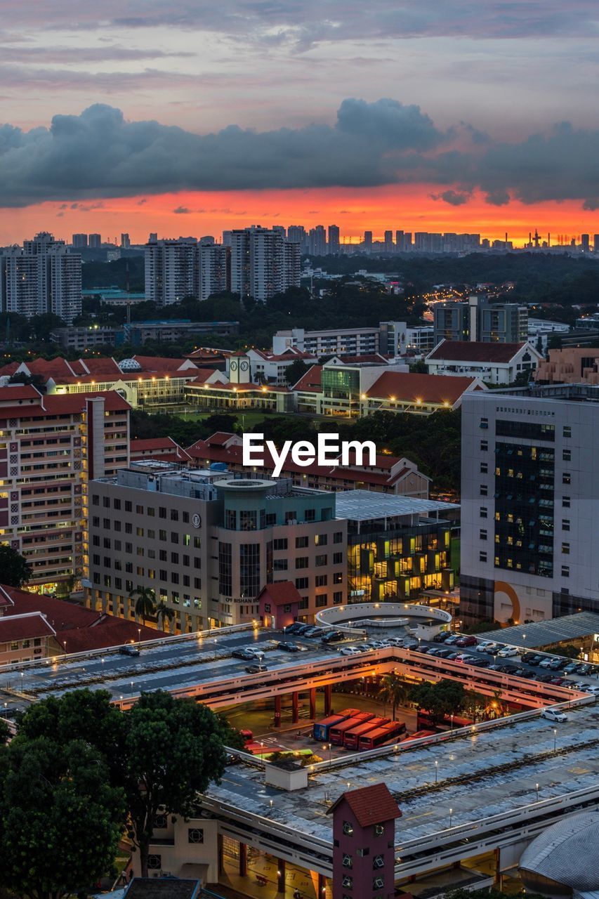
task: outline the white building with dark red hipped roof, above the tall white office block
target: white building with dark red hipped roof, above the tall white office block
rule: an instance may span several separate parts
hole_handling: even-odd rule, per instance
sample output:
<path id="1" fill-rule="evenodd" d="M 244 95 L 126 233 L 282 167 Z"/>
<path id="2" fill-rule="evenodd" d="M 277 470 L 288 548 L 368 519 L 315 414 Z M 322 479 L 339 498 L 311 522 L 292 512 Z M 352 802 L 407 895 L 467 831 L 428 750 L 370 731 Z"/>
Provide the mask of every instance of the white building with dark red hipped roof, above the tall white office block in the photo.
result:
<path id="1" fill-rule="evenodd" d="M 543 357 L 530 343 L 485 343 L 443 340 L 426 356 L 431 375 L 480 378 L 487 384 L 513 384 L 533 375 Z"/>

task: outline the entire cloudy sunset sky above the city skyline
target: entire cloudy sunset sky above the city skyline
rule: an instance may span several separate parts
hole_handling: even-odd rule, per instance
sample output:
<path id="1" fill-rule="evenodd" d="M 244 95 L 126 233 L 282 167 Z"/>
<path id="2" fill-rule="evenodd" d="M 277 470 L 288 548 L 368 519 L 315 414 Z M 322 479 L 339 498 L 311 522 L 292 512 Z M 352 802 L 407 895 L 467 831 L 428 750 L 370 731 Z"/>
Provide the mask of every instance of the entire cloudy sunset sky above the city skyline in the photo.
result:
<path id="1" fill-rule="evenodd" d="M 596 3 L 3 6 L 0 244 L 599 232 Z"/>

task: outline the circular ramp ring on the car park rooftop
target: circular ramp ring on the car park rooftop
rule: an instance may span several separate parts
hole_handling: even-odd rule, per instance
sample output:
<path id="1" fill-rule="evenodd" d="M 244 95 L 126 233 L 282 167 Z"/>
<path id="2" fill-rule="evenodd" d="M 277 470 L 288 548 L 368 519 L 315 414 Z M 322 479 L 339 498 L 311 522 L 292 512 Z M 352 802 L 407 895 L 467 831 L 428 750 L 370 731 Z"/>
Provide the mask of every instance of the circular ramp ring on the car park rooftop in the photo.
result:
<path id="1" fill-rule="evenodd" d="M 324 628 L 348 634 L 397 630 L 398 636 L 415 631 L 416 636 L 430 638 L 451 624 L 451 615 L 414 602 L 351 602 L 317 612 L 316 620 Z"/>

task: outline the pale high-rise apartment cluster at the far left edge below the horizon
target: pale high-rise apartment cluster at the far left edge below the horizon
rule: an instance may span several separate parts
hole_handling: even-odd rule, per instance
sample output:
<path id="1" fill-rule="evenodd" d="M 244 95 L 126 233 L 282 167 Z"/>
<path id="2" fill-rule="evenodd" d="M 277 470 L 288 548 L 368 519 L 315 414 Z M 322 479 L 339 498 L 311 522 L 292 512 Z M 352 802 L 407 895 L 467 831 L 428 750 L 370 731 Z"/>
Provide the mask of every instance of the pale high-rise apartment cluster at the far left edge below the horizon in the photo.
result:
<path id="1" fill-rule="evenodd" d="M 0 256 L 2 308 L 31 318 L 52 312 L 67 325 L 81 313 L 81 256 L 40 232 Z"/>

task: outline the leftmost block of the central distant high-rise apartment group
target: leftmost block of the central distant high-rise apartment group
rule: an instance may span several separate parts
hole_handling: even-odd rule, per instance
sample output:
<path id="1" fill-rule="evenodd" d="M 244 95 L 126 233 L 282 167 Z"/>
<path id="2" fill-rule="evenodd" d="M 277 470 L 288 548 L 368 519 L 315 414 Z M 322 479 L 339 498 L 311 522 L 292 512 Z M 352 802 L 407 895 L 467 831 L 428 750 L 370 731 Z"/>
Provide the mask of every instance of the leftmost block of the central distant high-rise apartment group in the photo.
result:
<path id="1" fill-rule="evenodd" d="M 146 299 L 158 306 L 200 296 L 200 256 L 193 237 L 150 240 L 144 258 Z"/>

